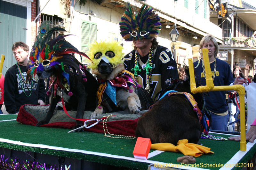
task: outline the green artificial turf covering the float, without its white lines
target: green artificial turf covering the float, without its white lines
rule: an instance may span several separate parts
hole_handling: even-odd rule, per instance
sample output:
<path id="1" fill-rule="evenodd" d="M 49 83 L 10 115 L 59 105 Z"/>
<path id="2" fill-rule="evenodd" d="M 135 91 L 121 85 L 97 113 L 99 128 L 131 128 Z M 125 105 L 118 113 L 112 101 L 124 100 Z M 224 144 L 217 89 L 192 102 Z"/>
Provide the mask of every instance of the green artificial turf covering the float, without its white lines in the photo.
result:
<path id="1" fill-rule="evenodd" d="M 6 117 L 7 116 L 7 117 Z M 17 115 L 4 115 L 0 116 L 0 120 L 15 119 Z M 50 146 L 58 146 L 70 149 L 79 149 L 84 151 L 101 152 L 108 153 L 111 155 L 119 155 L 125 157 L 133 158 L 133 149 L 136 143 L 136 139 L 117 139 L 104 137 L 104 134 L 93 133 L 93 132 L 72 132 L 67 133 L 70 129 L 59 129 L 59 128 L 44 128 L 35 127 L 25 124 L 20 124 L 16 121 L 6 121 L 0 122 L 1 132 L 0 138 L 20 141 L 30 144 L 45 144 Z M 229 137 L 227 135 L 217 135 L 214 136 Z M 214 154 L 206 154 L 196 157 L 196 163 L 200 164 L 225 164 L 231 159 L 236 152 L 240 149 L 240 143 L 235 141 L 216 141 L 211 139 L 200 139 L 200 142 L 211 148 Z M 56 151 L 43 148 L 35 148 L 28 146 L 20 146 L 16 144 L 8 144 L 1 142 L 0 147 L 31 151 L 44 154 L 52 154 L 58 156 L 65 156 L 76 159 L 83 159 L 87 161 L 100 162 L 104 164 L 114 165 L 114 166 L 124 166 L 136 169 L 147 169 L 149 163 L 141 163 L 137 161 L 130 161 L 124 159 L 107 158 L 97 155 L 89 155 L 77 152 L 67 152 L 67 151 Z M 150 150 L 153 152 L 154 150 Z M 249 153 L 244 156 L 240 161 L 241 163 L 246 162 L 251 159 L 253 154 L 256 152 L 256 146 L 252 147 Z M 164 163 L 180 164 L 176 161 L 178 157 L 184 156 L 180 152 L 163 152 L 156 155 L 148 160 L 159 161 Z M 203 167 L 204 168 L 204 167 Z M 217 167 L 206 169 L 219 169 Z M 234 168 L 241 169 L 241 168 Z"/>

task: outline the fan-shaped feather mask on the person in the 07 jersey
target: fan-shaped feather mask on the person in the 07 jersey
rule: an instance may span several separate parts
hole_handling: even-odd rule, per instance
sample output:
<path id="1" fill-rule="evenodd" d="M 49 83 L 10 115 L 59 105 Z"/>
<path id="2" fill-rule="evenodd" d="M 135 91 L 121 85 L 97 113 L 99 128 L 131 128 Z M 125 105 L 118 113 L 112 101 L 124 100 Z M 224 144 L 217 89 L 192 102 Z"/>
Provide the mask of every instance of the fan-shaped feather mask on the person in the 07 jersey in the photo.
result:
<path id="1" fill-rule="evenodd" d="M 151 39 L 161 30 L 158 14 L 152 7 L 143 5 L 138 12 L 130 6 L 124 12 L 119 23 L 120 34 L 125 41 Z"/>

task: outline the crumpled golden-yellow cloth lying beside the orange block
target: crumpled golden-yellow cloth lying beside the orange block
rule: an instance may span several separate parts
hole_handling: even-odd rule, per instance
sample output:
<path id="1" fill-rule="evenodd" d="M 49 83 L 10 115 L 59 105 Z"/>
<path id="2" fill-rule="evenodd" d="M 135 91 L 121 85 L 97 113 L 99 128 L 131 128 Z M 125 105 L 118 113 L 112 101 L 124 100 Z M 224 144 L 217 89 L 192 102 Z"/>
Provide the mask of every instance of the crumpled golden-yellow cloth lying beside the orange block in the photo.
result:
<path id="1" fill-rule="evenodd" d="M 210 151 L 211 148 L 199 144 L 188 143 L 188 139 L 179 140 L 178 145 L 170 143 L 158 143 L 152 144 L 150 149 L 161 150 L 161 151 L 170 151 L 170 152 L 181 152 L 184 155 L 199 157 L 203 153 L 214 153 Z"/>

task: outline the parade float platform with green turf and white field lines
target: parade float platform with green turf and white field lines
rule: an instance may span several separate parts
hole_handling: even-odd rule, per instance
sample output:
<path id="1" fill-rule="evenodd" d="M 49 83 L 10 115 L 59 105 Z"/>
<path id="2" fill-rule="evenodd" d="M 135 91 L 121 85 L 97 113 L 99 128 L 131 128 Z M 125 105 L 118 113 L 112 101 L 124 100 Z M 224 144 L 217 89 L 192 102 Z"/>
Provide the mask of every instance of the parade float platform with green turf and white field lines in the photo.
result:
<path id="1" fill-rule="evenodd" d="M 102 133 L 72 132 L 70 129 L 46 128 L 21 124 L 17 115 L 0 115 L 0 146 L 2 155 L 12 159 L 32 160 L 40 163 L 59 164 L 58 158 L 65 158 L 64 164 L 71 169 L 148 169 L 150 164 L 178 164 L 176 159 L 184 156 L 180 152 L 162 152 L 148 160 L 135 159 L 133 149 L 136 139 L 104 137 Z M 212 133 L 213 136 L 228 138 L 230 135 Z M 224 167 L 178 167 L 178 169 L 241 169 L 225 167 L 236 163 L 247 163 L 256 152 L 254 143 L 247 143 L 245 152 L 239 151 L 240 143 L 200 139 L 214 154 L 196 157 L 196 164 Z M 150 150 L 154 152 L 155 150 Z M 230 164 L 230 165 L 229 165 Z M 240 164 L 241 165 L 241 164 Z"/>

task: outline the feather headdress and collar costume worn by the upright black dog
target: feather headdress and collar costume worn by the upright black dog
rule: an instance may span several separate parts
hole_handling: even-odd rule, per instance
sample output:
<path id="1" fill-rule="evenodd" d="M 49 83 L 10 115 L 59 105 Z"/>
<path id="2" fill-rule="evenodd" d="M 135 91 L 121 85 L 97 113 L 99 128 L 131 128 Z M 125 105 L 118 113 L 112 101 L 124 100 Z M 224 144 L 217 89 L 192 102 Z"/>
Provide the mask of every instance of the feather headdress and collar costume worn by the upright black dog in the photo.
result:
<path id="1" fill-rule="evenodd" d="M 89 57 L 78 51 L 73 45 L 71 45 L 64 38 L 68 35 L 58 36 L 51 40 L 52 34 L 55 31 L 65 31 L 61 27 L 51 28 L 50 21 L 44 21 L 38 28 L 38 34 L 36 36 L 35 43 L 32 47 L 32 51 L 29 56 L 29 70 L 27 73 L 27 78 L 31 81 L 32 76 L 36 76 L 36 71 L 47 71 L 52 68 L 57 70 L 62 70 L 57 72 L 56 77 L 50 77 L 49 90 L 46 94 L 51 95 L 51 88 L 53 87 L 54 95 L 56 95 L 57 87 L 61 89 L 66 89 L 69 96 L 72 96 L 70 92 L 69 76 L 70 74 L 78 74 L 79 77 L 83 76 L 83 81 L 86 81 L 86 75 L 84 73 L 84 68 L 81 63 L 79 67 L 76 62 L 74 62 L 74 56 L 70 53 L 76 53 L 80 56 Z M 65 56 L 65 57 L 63 57 Z"/>

